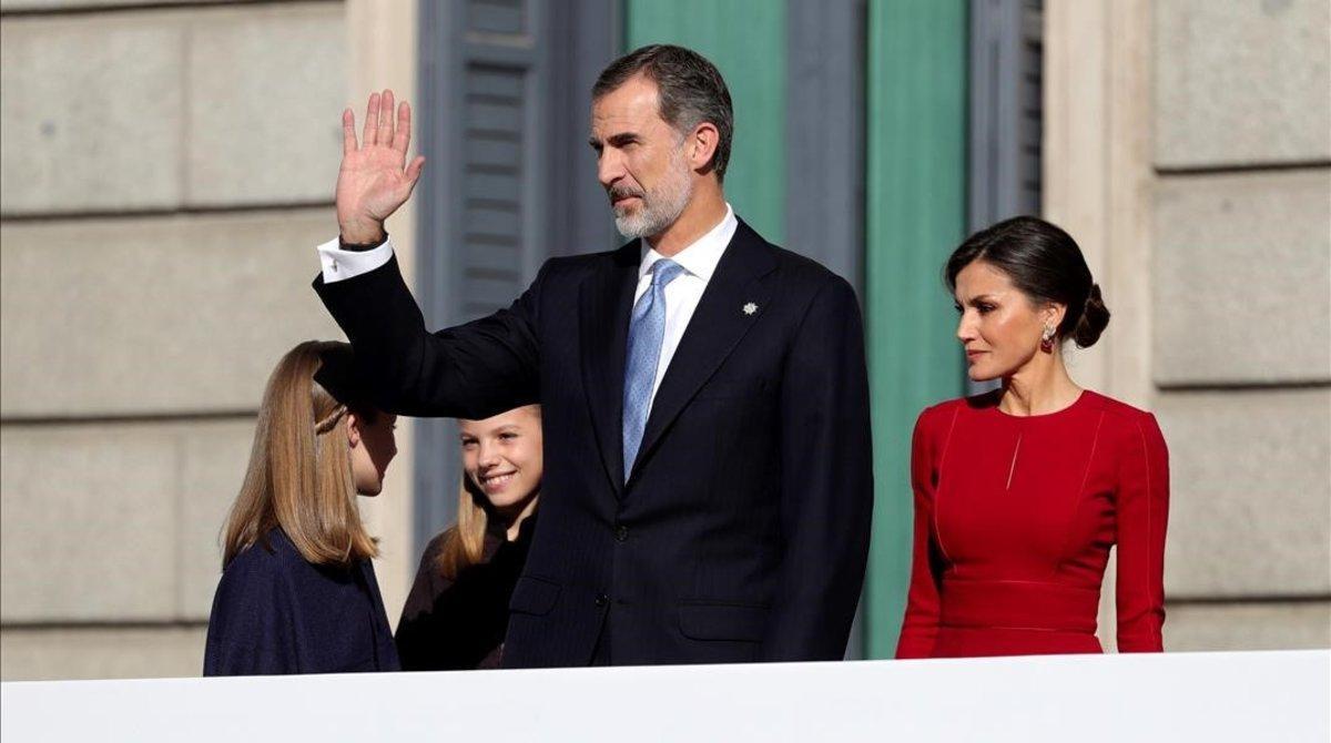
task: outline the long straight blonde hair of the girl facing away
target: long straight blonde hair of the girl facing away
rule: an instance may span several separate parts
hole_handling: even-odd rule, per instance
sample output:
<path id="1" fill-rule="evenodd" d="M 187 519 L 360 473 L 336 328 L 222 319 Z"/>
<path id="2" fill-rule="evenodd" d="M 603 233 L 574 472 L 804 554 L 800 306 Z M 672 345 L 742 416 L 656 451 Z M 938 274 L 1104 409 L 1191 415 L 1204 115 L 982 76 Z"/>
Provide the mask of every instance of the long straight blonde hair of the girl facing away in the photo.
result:
<path id="1" fill-rule="evenodd" d="M 241 550 L 266 545 L 274 527 L 314 565 L 350 566 L 378 554 L 357 510 L 346 427 L 347 413 L 370 423 L 377 411 L 354 399 L 351 368 L 351 346 L 333 341 L 306 341 L 277 364 L 222 530 L 224 569 Z"/>

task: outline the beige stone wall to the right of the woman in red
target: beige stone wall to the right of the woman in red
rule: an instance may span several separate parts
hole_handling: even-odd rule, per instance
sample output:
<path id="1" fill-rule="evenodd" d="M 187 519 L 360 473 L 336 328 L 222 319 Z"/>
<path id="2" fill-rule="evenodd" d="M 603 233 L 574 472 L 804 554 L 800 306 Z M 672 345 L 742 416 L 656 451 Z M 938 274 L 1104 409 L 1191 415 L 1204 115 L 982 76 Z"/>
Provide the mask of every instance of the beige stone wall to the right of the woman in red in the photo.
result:
<path id="1" fill-rule="evenodd" d="M 1046 4 L 1045 210 L 1114 312 L 1073 369 L 1169 442 L 1169 650 L 1331 646 L 1328 8 Z"/>

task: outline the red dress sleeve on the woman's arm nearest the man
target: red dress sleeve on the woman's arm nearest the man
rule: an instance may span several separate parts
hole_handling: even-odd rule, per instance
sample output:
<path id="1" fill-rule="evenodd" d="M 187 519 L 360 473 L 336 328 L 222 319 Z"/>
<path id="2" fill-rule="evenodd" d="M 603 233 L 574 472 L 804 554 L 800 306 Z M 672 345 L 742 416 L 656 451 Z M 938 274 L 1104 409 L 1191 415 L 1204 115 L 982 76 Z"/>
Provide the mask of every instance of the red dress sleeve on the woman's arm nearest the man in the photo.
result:
<path id="1" fill-rule="evenodd" d="M 914 546 L 906 615 L 897 639 L 897 658 L 929 658 L 938 636 L 942 562 L 933 545 L 933 462 L 936 437 L 929 411 L 920 414 L 910 439 L 910 490 L 914 494 Z"/>

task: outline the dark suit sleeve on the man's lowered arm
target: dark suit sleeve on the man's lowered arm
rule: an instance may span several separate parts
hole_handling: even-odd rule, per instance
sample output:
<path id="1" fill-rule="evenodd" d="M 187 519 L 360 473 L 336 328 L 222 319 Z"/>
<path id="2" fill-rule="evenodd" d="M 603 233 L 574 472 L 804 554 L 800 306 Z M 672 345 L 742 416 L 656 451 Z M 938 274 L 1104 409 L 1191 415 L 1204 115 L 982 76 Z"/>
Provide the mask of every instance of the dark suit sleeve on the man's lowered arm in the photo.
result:
<path id="1" fill-rule="evenodd" d="M 855 292 L 829 278 L 781 379 L 781 558 L 761 658 L 840 660 L 864 585 L 873 446 Z"/>

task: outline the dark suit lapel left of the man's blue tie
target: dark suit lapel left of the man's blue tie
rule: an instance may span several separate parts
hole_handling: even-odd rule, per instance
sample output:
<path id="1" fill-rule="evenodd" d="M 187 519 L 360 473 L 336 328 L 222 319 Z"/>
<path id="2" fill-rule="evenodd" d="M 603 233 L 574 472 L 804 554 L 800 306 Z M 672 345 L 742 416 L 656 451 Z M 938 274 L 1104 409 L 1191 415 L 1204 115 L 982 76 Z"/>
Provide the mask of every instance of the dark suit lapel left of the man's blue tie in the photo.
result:
<path id="1" fill-rule="evenodd" d="M 602 463 L 615 493 L 624 489 L 624 354 L 639 250 L 635 240 L 612 253 L 611 261 L 583 282 L 578 302 L 583 387 Z"/>

